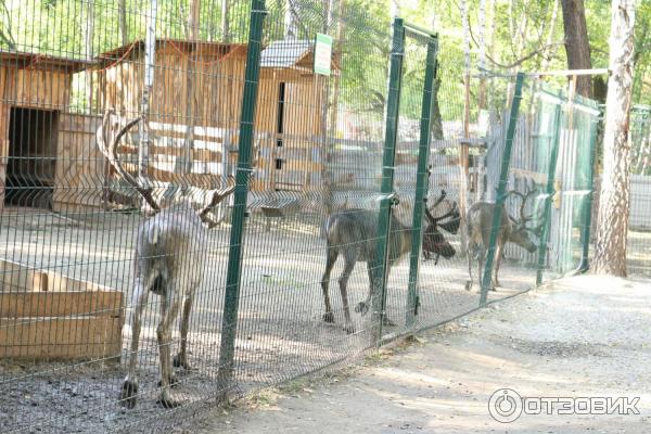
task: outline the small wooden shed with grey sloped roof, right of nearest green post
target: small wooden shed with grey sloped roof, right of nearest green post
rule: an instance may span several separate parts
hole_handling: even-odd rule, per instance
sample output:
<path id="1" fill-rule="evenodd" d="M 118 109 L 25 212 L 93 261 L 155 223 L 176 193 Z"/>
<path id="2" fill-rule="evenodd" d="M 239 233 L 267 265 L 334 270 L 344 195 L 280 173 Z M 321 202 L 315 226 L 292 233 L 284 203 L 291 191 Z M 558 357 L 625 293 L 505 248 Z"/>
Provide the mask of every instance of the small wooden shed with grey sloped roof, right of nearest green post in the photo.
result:
<path id="1" fill-rule="evenodd" d="M 264 136 L 254 188 L 302 191 L 320 182 L 328 77 L 314 74 L 312 64 L 309 40 L 276 41 L 261 53 L 256 129 Z"/>

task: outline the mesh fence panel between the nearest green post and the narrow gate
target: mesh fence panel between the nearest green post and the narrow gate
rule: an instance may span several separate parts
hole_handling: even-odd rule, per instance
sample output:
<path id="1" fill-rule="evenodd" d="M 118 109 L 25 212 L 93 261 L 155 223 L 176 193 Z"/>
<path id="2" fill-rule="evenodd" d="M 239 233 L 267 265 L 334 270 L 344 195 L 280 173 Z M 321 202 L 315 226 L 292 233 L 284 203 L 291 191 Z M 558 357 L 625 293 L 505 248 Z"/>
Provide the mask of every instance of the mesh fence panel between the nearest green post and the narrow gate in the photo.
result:
<path id="1" fill-rule="evenodd" d="M 374 345 L 390 27 L 367 28 L 356 22 L 369 20 L 363 12 L 320 1 L 267 10 L 233 372 L 245 390 Z M 314 68 L 317 35 L 333 38 L 326 74 Z"/>

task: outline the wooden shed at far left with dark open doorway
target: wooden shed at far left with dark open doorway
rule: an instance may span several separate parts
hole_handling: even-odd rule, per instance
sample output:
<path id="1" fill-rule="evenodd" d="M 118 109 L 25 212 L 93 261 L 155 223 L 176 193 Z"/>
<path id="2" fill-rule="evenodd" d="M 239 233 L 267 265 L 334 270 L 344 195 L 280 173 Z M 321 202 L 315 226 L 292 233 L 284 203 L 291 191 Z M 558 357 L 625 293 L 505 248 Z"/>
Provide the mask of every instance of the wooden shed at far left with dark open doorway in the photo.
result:
<path id="1" fill-rule="evenodd" d="M 0 51 L 0 210 L 5 204 L 53 207 L 68 186 L 63 149 L 73 74 L 89 62 Z"/>

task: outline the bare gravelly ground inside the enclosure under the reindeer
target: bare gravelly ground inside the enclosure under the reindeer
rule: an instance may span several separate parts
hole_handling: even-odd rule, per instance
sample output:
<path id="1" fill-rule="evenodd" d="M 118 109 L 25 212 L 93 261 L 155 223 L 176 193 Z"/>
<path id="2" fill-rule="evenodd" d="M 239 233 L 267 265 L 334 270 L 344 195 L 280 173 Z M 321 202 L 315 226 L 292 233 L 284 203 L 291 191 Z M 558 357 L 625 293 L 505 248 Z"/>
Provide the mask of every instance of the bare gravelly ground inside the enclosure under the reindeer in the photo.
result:
<path id="1" fill-rule="evenodd" d="M 178 413 L 165 411 L 156 403 L 158 297 L 150 297 L 152 306 L 143 317 L 138 359 L 142 396 L 133 410 L 117 405 L 131 337 L 128 322 L 132 240 L 140 219 L 105 213 L 71 217 L 35 209 L 5 212 L 0 218 L 0 257 L 124 291 L 127 306 L 122 362 L 0 360 L 0 433 L 98 433 L 129 425 L 130 432 L 139 432 L 176 422 Z M 347 335 L 342 331 L 336 284 L 343 268 L 341 260 L 333 270 L 330 290 L 337 322 L 328 324 L 321 320 L 320 279 L 326 246 L 318 232 L 315 221 L 301 217 L 281 227 L 273 225 L 270 232 L 256 220 L 246 233 L 235 342 L 235 379 L 243 391 L 321 369 L 371 345 L 370 315 L 353 314 L 357 333 Z M 194 370 L 189 374 L 180 371 L 181 384 L 175 388 L 184 403 L 196 406 L 205 405 L 219 387 L 216 378 L 228 234 L 226 226 L 210 231 L 206 279 L 196 293 L 189 333 L 189 357 Z M 452 242 L 458 247 L 458 239 Z M 365 268 L 363 264 L 358 265 L 348 283 L 353 305 L 366 296 Z M 409 261 L 403 260 L 392 269 L 388 279 L 387 311 L 398 324 L 406 317 L 408 273 Z M 460 258 L 442 259 L 438 265 L 433 260 L 422 264 L 420 324 L 434 324 L 477 306 L 477 294 L 463 289 L 465 273 Z M 505 264 L 501 277 L 505 288 L 490 293 L 493 299 L 531 288 L 535 280 L 531 269 L 509 264 Z M 176 346 L 176 331 L 174 339 Z M 193 406 L 187 407 L 191 410 Z"/>

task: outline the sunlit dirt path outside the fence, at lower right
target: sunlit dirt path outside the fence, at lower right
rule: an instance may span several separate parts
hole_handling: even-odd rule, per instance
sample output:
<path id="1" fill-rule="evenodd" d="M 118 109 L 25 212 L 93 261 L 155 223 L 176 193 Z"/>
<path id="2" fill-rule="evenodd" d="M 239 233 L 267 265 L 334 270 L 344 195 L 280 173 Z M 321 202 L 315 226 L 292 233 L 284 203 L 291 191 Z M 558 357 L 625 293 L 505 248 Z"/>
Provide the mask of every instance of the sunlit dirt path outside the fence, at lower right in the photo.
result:
<path id="1" fill-rule="evenodd" d="M 603 277 L 558 282 L 480 310 L 350 375 L 296 382 L 188 433 L 648 433 L 651 283 Z M 393 353 L 393 354 L 392 354 Z M 639 414 L 522 414 L 494 421 L 489 396 L 639 397 Z"/>

